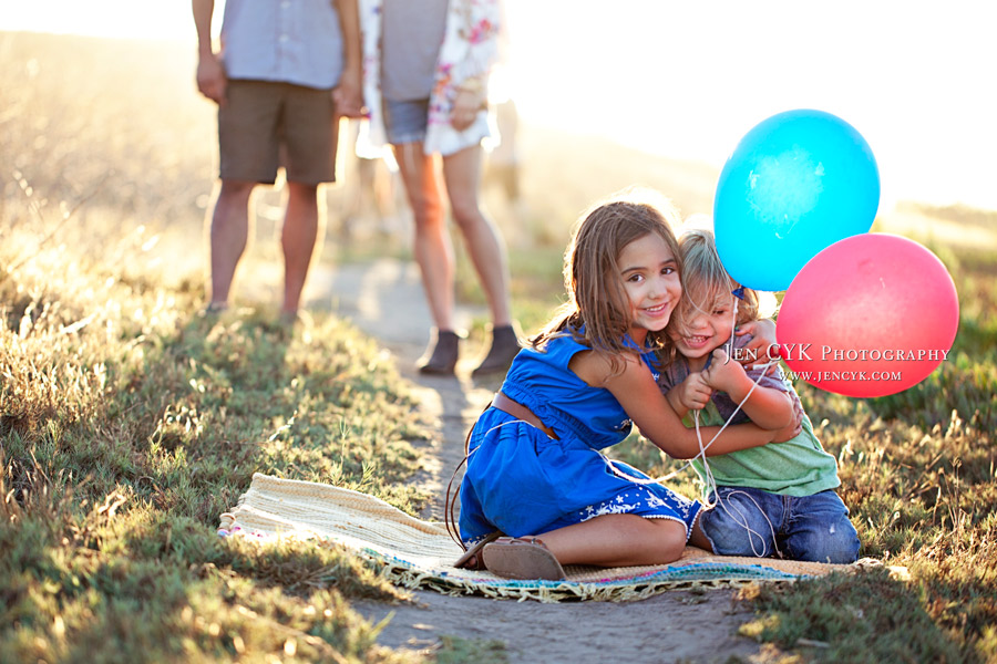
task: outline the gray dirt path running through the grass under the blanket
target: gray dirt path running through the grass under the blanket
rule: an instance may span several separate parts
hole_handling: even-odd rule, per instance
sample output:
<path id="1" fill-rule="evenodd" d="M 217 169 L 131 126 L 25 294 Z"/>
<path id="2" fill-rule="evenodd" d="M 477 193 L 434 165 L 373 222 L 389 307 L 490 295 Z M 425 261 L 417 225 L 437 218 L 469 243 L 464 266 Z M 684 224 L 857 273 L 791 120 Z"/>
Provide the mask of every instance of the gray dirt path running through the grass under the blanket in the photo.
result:
<path id="1" fill-rule="evenodd" d="M 481 349 L 462 349 L 454 377 L 420 375 L 414 362 L 431 325 L 415 266 L 384 259 L 372 263 L 318 270 L 310 289 L 315 308 L 331 307 L 380 340 L 398 357 L 439 436 L 425 450 L 417 478 L 439 499 L 423 515 L 442 520 L 443 492 L 463 457 L 464 436 L 501 384 L 501 378 L 472 380 Z M 469 325 L 480 311 L 459 311 Z M 627 603 L 541 604 L 476 596 L 413 592 L 413 603 L 390 605 L 353 602 L 373 621 L 393 614 L 378 642 L 390 647 L 431 650 L 441 636 L 501 641 L 508 661 L 526 662 L 758 662 L 759 645 L 737 635 L 750 613 L 733 601 L 733 591 L 676 591 Z"/>

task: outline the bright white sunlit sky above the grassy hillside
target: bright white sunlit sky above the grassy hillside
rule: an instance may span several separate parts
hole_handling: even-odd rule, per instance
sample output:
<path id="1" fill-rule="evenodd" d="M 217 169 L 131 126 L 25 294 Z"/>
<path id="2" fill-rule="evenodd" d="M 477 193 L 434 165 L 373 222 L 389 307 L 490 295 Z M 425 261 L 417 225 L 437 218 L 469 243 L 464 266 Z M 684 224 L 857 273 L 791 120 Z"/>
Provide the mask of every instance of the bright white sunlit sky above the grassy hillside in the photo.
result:
<path id="1" fill-rule="evenodd" d="M 719 168 L 758 122 L 820 108 L 870 143 L 884 204 L 997 209 L 989 0 L 507 0 L 506 12 L 511 90 L 534 124 Z M 194 48 L 186 0 L 3 0 L 0 15 L 2 30 Z"/>

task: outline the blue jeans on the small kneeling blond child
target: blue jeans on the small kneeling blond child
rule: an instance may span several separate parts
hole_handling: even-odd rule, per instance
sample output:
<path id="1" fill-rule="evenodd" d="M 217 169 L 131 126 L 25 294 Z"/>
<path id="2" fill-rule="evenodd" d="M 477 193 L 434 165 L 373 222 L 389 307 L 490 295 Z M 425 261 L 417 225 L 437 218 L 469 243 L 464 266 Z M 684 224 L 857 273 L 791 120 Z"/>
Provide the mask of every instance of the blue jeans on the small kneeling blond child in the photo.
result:
<path id="1" fill-rule="evenodd" d="M 859 533 L 849 508 L 833 490 L 782 496 L 748 487 L 717 487 L 716 507 L 700 517 L 713 552 L 721 556 L 850 563 L 859 558 Z"/>

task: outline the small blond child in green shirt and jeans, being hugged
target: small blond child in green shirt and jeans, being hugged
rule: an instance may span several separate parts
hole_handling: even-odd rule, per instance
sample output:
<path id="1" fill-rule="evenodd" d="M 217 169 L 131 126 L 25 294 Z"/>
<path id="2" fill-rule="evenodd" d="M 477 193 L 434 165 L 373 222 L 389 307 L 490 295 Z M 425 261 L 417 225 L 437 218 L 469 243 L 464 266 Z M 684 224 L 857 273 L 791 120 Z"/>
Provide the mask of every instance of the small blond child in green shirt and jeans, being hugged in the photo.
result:
<path id="1" fill-rule="evenodd" d="M 746 372 L 729 359 L 734 317 L 740 325 L 757 319 L 757 293 L 739 289 L 728 276 L 711 232 L 689 231 L 679 246 L 685 295 L 668 325 L 677 355 L 661 374 L 661 391 L 679 416 L 698 411 L 700 424 L 722 425 L 733 416 L 731 424 L 785 426 L 794 411 L 802 414 L 802 406 L 782 371 Z M 805 414 L 802 419 L 803 430 L 789 440 L 728 452 L 708 464 L 692 461 L 707 505 L 716 504 L 700 517 L 715 553 L 836 563 L 857 558 L 859 536 L 834 492 L 841 484 L 837 464 L 821 447 Z"/>

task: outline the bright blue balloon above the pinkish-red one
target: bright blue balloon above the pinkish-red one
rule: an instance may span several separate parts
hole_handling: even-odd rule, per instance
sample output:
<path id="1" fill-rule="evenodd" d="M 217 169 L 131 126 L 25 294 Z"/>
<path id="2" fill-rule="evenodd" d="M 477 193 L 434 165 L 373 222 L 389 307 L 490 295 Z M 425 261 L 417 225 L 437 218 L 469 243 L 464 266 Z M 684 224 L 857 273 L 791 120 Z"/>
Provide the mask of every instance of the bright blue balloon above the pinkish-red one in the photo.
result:
<path id="1" fill-rule="evenodd" d="M 782 291 L 822 249 L 867 232 L 878 206 L 876 160 L 852 125 L 823 111 L 779 113 L 720 172 L 717 252 L 739 283 Z"/>

